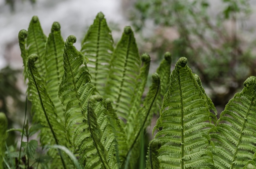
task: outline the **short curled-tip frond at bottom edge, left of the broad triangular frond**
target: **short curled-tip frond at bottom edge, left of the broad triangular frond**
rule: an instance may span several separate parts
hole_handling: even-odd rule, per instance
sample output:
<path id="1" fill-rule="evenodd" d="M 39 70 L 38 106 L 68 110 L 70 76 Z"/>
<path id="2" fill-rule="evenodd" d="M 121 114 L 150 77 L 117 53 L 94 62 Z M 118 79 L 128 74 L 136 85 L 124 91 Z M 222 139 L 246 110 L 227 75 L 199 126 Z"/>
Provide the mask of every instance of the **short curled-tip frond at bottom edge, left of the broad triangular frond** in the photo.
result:
<path id="1" fill-rule="evenodd" d="M 161 142 L 157 139 L 151 140 L 148 146 L 146 169 L 161 169 L 158 157 L 158 149 Z"/>

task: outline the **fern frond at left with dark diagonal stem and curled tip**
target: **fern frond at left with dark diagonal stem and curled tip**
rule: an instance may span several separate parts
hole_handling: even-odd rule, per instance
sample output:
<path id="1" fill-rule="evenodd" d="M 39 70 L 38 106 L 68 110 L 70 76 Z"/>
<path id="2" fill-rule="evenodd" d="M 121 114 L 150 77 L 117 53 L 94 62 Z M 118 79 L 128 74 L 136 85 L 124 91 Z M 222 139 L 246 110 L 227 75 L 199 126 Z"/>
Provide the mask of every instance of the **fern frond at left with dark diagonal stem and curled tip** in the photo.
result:
<path id="1" fill-rule="evenodd" d="M 65 130 L 62 123 L 59 123 L 59 117 L 56 109 L 49 97 L 45 87 L 45 82 L 40 76 L 35 61 L 38 59 L 36 54 L 32 54 L 27 60 L 27 77 L 28 77 L 28 99 L 32 102 L 33 120 L 44 126 L 40 132 L 40 143 L 57 144 L 67 146 L 68 141 L 65 137 Z M 55 154 L 56 157 L 57 154 Z M 61 158 L 63 167 L 65 162 Z"/>

